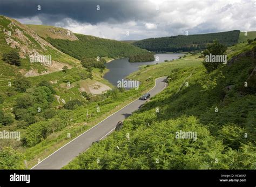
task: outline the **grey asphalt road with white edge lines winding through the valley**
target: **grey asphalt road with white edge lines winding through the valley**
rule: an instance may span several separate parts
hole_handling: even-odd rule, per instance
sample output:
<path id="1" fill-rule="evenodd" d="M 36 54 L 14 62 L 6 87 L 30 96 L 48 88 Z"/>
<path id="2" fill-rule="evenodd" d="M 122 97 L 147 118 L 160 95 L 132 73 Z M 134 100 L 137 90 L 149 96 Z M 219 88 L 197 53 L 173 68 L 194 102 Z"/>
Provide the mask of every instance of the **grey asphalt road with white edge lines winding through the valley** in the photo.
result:
<path id="1" fill-rule="evenodd" d="M 165 79 L 166 77 L 156 79 L 155 86 L 148 93 L 154 96 L 161 92 L 167 85 L 164 81 Z M 134 100 L 89 130 L 86 130 L 83 134 L 65 144 L 65 146 L 59 148 L 31 169 L 61 169 L 72 161 L 73 158 L 86 151 L 93 142 L 102 140 L 109 135 L 116 128 L 118 121 L 122 121 L 131 115 L 144 102 L 139 99 Z"/>

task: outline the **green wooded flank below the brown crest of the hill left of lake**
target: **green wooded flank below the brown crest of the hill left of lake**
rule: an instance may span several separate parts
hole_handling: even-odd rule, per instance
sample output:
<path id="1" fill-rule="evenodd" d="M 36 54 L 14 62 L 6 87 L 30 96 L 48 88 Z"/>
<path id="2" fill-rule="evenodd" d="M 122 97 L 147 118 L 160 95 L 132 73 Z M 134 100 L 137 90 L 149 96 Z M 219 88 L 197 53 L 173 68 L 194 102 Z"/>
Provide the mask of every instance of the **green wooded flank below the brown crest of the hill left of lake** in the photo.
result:
<path id="1" fill-rule="evenodd" d="M 83 34 L 75 34 L 75 36 L 79 40 L 70 41 L 52 39 L 50 37 L 46 39 L 58 50 L 79 60 L 97 57 L 124 58 L 134 54 L 148 53 L 146 50 L 140 49 L 139 47 L 116 40 L 86 36 Z"/>

